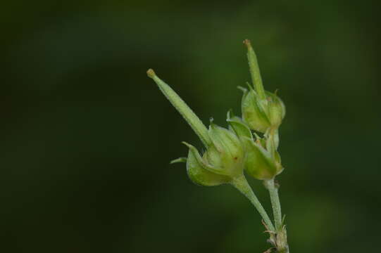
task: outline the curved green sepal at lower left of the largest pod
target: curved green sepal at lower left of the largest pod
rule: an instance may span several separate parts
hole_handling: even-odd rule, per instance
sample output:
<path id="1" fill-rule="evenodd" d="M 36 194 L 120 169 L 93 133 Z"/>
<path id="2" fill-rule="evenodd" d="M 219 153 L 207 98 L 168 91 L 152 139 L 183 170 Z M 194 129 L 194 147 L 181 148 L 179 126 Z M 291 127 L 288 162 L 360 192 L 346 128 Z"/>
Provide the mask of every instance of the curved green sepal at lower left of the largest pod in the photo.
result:
<path id="1" fill-rule="evenodd" d="M 189 148 L 187 158 L 187 174 L 192 182 L 201 186 L 219 186 L 223 183 L 229 183 L 230 177 L 213 173 L 206 169 L 199 151 L 194 146 L 183 142 Z"/>

